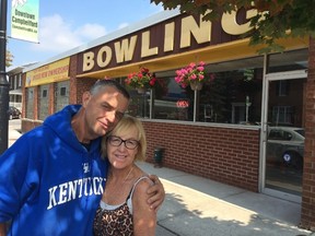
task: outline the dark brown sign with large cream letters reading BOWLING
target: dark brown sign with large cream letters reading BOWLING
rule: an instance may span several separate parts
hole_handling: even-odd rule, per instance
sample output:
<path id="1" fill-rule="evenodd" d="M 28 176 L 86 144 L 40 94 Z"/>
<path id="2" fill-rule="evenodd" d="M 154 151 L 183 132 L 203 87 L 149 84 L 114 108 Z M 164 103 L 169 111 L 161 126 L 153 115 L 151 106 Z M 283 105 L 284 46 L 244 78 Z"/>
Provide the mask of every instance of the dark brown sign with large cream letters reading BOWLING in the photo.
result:
<path id="1" fill-rule="evenodd" d="M 122 37 L 105 42 L 78 55 L 78 74 L 128 66 L 144 60 L 187 54 L 206 46 L 242 39 L 249 32 L 254 9 L 224 13 L 219 22 L 202 15 L 179 14 Z"/>

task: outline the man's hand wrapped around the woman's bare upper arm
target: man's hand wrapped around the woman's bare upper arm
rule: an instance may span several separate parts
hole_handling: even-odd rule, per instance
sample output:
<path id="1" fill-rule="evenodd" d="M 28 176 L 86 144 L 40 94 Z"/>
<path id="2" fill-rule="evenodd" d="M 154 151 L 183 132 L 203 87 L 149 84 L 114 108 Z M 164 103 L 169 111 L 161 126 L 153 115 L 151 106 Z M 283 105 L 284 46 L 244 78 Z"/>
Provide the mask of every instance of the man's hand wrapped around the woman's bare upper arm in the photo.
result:
<path id="1" fill-rule="evenodd" d="M 165 190 L 156 175 L 150 175 L 149 177 L 154 185 L 148 189 L 147 193 L 154 194 L 148 199 L 148 204 L 150 204 L 151 209 L 154 209 L 154 211 L 158 212 L 165 199 Z"/>

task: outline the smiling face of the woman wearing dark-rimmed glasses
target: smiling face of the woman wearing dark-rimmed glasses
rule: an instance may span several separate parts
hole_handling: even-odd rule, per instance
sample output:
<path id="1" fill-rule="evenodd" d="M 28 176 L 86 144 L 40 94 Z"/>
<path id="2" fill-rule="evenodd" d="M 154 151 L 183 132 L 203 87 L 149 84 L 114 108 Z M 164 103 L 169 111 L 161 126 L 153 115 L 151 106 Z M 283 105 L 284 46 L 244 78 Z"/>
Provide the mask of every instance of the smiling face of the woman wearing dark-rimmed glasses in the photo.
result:
<path id="1" fill-rule="evenodd" d="M 138 131 L 136 128 L 114 132 L 107 140 L 107 157 L 115 168 L 132 165 L 138 153 Z"/>

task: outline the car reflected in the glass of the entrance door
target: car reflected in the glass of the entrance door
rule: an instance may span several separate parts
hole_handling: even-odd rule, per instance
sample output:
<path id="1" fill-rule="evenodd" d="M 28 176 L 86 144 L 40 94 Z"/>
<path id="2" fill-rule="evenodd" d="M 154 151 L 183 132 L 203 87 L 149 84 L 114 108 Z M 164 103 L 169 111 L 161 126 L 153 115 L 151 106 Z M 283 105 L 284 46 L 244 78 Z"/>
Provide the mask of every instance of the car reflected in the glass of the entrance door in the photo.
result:
<path id="1" fill-rule="evenodd" d="M 269 127 L 267 163 L 303 168 L 304 129 L 296 127 Z"/>

